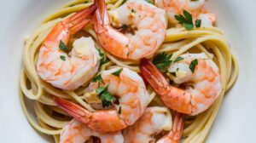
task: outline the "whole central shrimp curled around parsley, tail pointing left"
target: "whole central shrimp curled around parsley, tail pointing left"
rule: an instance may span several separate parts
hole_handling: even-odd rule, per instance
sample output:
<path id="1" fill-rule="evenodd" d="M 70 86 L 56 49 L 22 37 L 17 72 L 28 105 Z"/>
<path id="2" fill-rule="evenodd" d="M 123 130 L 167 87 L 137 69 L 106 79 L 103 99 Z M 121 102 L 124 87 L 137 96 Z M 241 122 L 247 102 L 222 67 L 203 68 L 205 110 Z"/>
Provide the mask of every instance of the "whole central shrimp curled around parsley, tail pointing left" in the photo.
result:
<path id="1" fill-rule="evenodd" d="M 114 72 L 119 72 L 119 75 L 114 75 Z M 112 108 L 89 112 L 73 102 L 58 97 L 54 97 L 55 104 L 95 131 L 125 129 L 135 123 L 146 109 L 149 95 L 143 79 L 137 72 L 119 67 L 103 71 L 100 76 L 102 82 L 90 83 L 90 88 L 96 90 L 99 86 L 102 87 L 102 83 L 108 85 L 108 92 L 118 98 Z"/>

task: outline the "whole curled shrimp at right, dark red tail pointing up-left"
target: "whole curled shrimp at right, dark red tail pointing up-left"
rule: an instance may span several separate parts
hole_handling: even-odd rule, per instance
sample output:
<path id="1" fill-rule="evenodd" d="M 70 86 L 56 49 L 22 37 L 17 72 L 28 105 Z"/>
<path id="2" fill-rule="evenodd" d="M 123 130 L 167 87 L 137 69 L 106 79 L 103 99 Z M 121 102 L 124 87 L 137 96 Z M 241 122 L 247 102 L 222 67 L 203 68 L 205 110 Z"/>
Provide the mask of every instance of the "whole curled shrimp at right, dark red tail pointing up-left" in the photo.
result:
<path id="1" fill-rule="evenodd" d="M 140 69 L 166 106 L 194 116 L 207 110 L 217 99 L 221 91 L 220 75 L 218 66 L 206 54 L 183 54 L 181 57 L 183 60 L 172 64 L 168 70 L 176 72 L 174 82 L 183 83 L 184 89 L 170 85 L 149 60 L 143 59 Z"/>

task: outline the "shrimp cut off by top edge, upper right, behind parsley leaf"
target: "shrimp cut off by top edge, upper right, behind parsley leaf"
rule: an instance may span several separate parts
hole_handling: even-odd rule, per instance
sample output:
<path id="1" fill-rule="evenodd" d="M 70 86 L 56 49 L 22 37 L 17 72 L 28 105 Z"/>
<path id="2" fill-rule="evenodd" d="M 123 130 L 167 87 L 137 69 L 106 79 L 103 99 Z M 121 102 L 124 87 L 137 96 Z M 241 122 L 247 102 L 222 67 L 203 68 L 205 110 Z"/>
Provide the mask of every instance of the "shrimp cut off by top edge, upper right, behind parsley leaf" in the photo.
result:
<path id="1" fill-rule="evenodd" d="M 216 21 L 215 14 L 209 13 L 203 8 L 206 0 L 154 0 L 154 3 L 157 7 L 166 10 L 167 18 L 174 26 L 179 26 L 174 16 L 182 14 L 183 9 L 192 14 L 193 20 L 201 20 L 202 27 L 212 26 Z"/>

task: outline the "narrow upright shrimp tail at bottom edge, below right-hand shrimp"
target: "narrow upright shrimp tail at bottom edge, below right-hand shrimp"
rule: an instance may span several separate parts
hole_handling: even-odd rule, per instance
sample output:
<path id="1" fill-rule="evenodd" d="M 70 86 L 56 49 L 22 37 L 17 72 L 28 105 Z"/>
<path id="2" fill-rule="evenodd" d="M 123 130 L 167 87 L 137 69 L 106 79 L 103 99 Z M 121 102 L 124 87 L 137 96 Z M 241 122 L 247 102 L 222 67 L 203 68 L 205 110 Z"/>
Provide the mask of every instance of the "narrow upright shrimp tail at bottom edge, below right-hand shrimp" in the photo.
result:
<path id="1" fill-rule="evenodd" d="M 183 135 L 183 124 L 183 115 L 180 113 L 176 113 L 172 124 L 171 132 L 169 134 L 166 134 L 156 143 L 179 143 L 179 140 Z"/>

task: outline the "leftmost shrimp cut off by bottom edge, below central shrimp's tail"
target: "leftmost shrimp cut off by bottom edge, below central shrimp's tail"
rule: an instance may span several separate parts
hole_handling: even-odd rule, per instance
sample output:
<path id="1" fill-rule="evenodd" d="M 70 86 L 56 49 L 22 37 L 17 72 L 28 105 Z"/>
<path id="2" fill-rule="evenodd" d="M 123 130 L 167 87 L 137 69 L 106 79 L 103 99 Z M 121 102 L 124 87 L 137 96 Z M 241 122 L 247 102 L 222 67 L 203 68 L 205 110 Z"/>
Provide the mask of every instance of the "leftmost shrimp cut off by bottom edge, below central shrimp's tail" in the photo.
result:
<path id="1" fill-rule="evenodd" d="M 96 132 L 84 123 L 73 119 L 61 131 L 60 143 L 84 143 L 90 137 L 98 137 L 102 143 L 123 143 L 124 137 L 121 131 L 116 132 Z"/>

